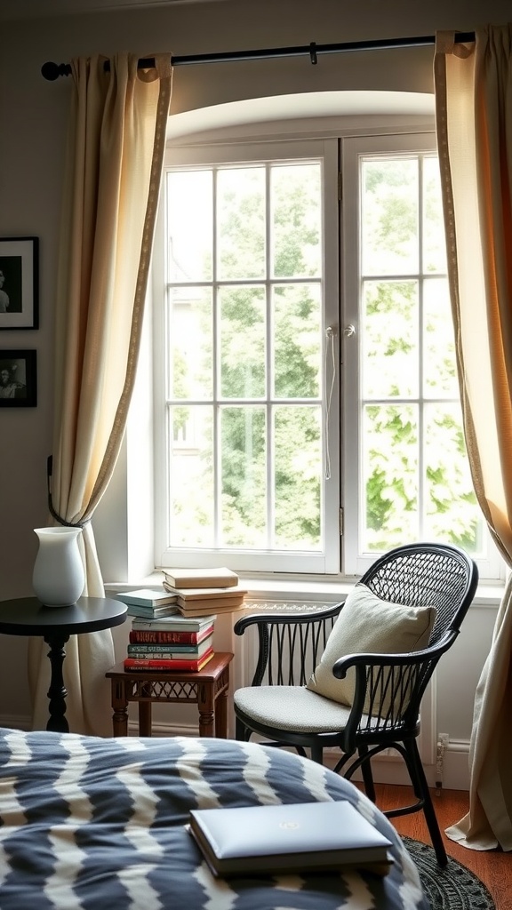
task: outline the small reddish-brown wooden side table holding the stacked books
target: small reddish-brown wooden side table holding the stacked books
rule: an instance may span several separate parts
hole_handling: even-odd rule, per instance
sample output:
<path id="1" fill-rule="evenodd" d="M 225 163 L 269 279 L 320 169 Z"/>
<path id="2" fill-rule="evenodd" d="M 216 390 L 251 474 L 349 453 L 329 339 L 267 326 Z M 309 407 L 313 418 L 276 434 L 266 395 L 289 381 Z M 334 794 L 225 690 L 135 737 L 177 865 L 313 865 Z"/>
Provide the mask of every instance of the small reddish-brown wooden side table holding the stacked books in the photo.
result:
<path id="1" fill-rule="evenodd" d="M 197 704 L 200 736 L 227 739 L 230 653 L 215 653 L 199 672 L 126 671 L 117 663 L 105 675 L 112 691 L 114 736 L 128 736 L 128 703 L 138 702 L 138 735 L 151 735 L 151 704 Z"/>

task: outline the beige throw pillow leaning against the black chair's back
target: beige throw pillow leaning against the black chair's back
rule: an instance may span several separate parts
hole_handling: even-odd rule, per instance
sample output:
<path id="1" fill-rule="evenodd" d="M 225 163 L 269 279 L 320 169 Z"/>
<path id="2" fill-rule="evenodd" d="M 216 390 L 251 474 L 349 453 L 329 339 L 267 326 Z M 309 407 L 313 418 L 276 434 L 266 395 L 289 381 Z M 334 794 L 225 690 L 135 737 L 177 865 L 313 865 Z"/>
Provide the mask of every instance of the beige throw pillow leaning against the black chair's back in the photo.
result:
<path id="1" fill-rule="evenodd" d="M 356 585 L 343 604 L 306 688 L 334 702 L 352 705 L 355 670 L 351 668 L 343 680 L 338 680 L 333 676 L 333 664 L 348 654 L 421 651 L 429 642 L 434 622 L 435 607 L 383 601 L 364 584 Z M 367 705 L 364 710 L 368 710 Z"/>

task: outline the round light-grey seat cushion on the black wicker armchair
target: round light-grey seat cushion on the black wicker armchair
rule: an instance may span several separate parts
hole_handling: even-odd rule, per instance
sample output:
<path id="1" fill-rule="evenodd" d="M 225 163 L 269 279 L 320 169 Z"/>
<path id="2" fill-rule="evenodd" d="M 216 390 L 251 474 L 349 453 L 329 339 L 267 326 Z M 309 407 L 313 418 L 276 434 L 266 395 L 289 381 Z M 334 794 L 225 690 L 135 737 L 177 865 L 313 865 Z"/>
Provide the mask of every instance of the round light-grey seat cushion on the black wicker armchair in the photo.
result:
<path id="1" fill-rule="evenodd" d="M 235 707 L 257 723 L 302 733 L 343 730 L 350 711 L 303 686 L 268 685 L 238 689 Z"/>

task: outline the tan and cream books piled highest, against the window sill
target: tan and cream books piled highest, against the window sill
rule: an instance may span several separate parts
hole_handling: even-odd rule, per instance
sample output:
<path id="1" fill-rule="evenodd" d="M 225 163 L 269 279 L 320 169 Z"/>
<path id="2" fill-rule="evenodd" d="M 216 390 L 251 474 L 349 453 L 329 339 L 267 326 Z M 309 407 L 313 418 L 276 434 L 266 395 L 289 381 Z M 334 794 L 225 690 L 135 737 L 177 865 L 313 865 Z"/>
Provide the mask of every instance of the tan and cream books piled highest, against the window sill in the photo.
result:
<path id="1" fill-rule="evenodd" d="M 175 569 L 163 572 L 163 586 L 183 616 L 241 610 L 247 589 L 230 569 Z"/>

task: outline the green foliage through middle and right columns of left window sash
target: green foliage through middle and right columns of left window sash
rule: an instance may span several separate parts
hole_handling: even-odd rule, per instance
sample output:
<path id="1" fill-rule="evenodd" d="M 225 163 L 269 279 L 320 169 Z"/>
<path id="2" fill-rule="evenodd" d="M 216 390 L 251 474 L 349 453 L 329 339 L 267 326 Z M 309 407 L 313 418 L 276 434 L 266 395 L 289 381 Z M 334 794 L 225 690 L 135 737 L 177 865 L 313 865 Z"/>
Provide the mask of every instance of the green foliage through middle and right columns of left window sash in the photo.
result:
<path id="1" fill-rule="evenodd" d="M 301 167 L 301 174 L 297 167 L 279 170 L 282 173 L 271 183 L 274 272 L 287 278 L 311 275 L 315 257 L 319 263 L 318 166 Z M 270 417 L 268 426 L 259 402 L 267 395 L 272 377 L 278 399 L 320 395 L 320 298 L 310 285 L 274 287 L 269 350 L 265 289 L 248 280 L 255 277 L 254 262 L 266 236 L 262 184 L 255 169 L 247 176 L 251 190 L 245 187 L 240 193 L 241 180 L 237 180 L 231 192 L 222 194 L 225 211 L 220 213 L 221 274 L 248 281 L 220 292 L 221 394 L 243 399 L 239 407 L 222 408 L 221 413 L 223 542 L 256 548 L 314 548 L 321 533 L 322 459 L 316 411 L 312 414 L 307 406 L 271 410 L 273 420 Z M 268 390 L 272 397 L 272 389 Z"/>

